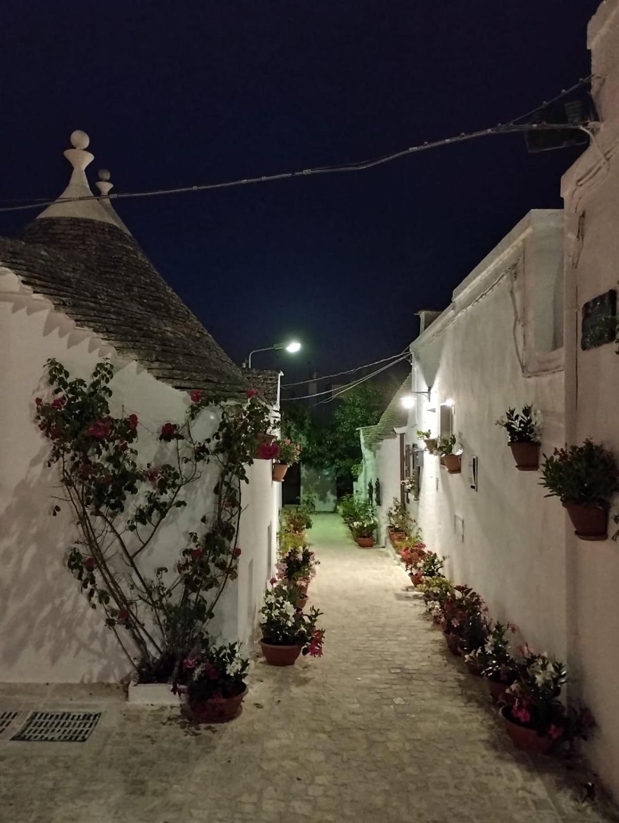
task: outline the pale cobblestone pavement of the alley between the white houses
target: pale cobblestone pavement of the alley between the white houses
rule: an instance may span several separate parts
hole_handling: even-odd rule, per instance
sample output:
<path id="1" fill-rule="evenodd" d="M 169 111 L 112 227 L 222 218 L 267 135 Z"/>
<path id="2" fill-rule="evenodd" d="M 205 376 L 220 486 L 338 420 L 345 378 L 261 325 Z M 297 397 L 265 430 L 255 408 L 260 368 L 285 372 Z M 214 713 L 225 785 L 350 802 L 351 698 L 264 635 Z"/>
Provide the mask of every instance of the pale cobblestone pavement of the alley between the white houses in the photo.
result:
<path id="1" fill-rule="evenodd" d="M 278 669 L 256 655 L 231 723 L 195 732 L 115 687 L 0 687 L 0 712 L 103 711 L 86 743 L 0 737 L 0 821 L 609 819 L 579 801 L 581 776 L 511 747 L 393 556 L 357 548 L 336 515 L 318 516 L 311 540 L 324 657 Z"/>

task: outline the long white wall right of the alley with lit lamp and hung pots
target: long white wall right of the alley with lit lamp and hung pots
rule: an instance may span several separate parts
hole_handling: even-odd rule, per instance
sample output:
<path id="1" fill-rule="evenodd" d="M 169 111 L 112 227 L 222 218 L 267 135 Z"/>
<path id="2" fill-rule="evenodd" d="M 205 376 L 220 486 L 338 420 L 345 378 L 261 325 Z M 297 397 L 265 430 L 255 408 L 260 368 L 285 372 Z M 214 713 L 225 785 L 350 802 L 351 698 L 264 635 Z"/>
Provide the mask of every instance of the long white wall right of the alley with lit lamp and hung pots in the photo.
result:
<path id="1" fill-rule="evenodd" d="M 535 325 L 524 323 L 554 323 L 552 308 L 536 296 L 561 277 L 561 244 L 561 212 L 531 212 L 458 286 L 450 308 L 411 346 L 413 384 L 431 386 L 431 401 L 417 395 L 407 434 L 411 443 L 417 429 L 438 435 L 440 404 L 453 402 L 462 473 L 449 475 L 425 453 L 412 515 L 426 544 L 449 556 L 449 577 L 472 585 L 492 616 L 514 622 L 533 647 L 559 658 L 566 650 L 563 510 L 544 497 L 537 472 L 516 470 L 495 421 L 510 406 L 533 403 L 542 412 L 542 450 L 563 443 L 562 352 L 545 352 L 554 366 L 540 366 Z M 477 491 L 469 481 L 473 456 Z"/>

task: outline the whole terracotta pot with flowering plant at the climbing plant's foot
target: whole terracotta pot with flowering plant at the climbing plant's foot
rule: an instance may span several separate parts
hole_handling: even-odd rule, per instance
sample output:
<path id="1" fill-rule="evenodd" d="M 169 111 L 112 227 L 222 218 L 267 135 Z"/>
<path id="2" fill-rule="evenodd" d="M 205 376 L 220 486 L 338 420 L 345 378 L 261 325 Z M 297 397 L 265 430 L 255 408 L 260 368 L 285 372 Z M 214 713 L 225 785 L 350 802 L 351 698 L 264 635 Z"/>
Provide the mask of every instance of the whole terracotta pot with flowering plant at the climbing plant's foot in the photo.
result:
<path id="1" fill-rule="evenodd" d="M 190 718 L 198 723 L 230 720 L 239 713 L 247 694 L 245 675 L 249 660 L 240 644 L 221 646 L 203 639 L 183 661 L 185 703 Z"/>

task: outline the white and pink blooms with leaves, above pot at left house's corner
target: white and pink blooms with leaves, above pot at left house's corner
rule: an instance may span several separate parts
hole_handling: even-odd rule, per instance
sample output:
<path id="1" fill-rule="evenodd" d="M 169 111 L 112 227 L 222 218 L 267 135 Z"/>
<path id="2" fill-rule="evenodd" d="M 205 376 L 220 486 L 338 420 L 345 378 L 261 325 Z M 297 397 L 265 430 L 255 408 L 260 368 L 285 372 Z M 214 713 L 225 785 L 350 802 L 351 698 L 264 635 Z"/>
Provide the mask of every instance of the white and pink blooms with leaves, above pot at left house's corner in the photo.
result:
<path id="1" fill-rule="evenodd" d="M 260 609 L 260 626 L 265 643 L 274 646 L 302 646 L 303 654 L 321 657 L 324 631 L 316 624 L 322 612 L 315 607 L 305 613 L 295 607 L 291 588 L 276 584 L 264 595 Z"/>

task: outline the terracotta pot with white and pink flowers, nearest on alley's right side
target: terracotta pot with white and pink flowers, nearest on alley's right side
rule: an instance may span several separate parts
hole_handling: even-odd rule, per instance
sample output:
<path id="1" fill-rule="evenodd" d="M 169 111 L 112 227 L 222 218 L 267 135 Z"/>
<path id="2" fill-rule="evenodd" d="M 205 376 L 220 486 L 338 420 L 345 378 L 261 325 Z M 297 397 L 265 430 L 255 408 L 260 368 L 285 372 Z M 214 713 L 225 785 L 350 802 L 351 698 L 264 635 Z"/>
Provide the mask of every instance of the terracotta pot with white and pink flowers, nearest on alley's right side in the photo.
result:
<path id="1" fill-rule="evenodd" d="M 533 754 L 546 754 L 558 742 L 586 739 L 593 718 L 587 709 L 565 707 L 561 689 L 567 681 L 563 663 L 536 654 L 525 646 L 518 677 L 505 692 L 500 709 L 505 731 L 517 748 Z"/>

